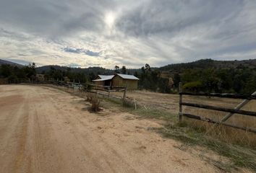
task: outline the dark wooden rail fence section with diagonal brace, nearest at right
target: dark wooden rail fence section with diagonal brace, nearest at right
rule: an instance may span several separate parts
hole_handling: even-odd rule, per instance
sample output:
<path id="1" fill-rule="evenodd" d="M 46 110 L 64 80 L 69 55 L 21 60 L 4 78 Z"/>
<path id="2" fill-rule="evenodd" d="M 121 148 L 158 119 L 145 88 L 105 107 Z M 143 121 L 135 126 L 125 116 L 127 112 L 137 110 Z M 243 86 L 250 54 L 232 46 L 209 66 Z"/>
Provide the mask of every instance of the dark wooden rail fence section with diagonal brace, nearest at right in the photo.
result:
<path id="1" fill-rule="evenodd" d="M 216 107 L 211 105 L 202 105 L 202 104 L 195 104 L 192 102 L 184 102 L 182 96 L 183 95 L 190 95 L 190 96 L 205 96 L 205 97 L 221 97 L 221 98 L 231 98 L 231 99 L 244 99 L 239 105 L 232 108 L 226 108 L 226 107 Z M 232 128 L 238 128 L 241 130 L 246 130 L 249 132 L 256 133 L 255 128 L 249 128 L 249 127 L 240 127 L 237 125 L 232 125 L 229 123 L 226 123 L 226 120 L 229 120 L 229 118 L 234 114 L 240 114 L 244 116 L 252 116 L 256 117 L 256 112 L 247 111 L 247 110 L 240 110 L 244 105 L 246 105 L 249 100 L 256 99 L 256 92 L 253 94 L 221 94 L 221 93 L 191 93 L 191 92 L 182 92 L 182 83 L 179 84 L 179 122 L 182 122 L 182 117 L 188 117 L 195 120 L 202 120 L 208 123 L 213 123 L 217 125 L 225 125 Z M 188 106 L 188 107 L 197 107 L 207 110 L 217 110 L 221 112 L 229 112 L 229 114 L 225 115 L 221 120 L 216 121 L 212 120 L 208 117 L 201 117 L 199 115 L 192 115 L 188 113 L 184 113 L 182 110 L 182 106 Z"/>

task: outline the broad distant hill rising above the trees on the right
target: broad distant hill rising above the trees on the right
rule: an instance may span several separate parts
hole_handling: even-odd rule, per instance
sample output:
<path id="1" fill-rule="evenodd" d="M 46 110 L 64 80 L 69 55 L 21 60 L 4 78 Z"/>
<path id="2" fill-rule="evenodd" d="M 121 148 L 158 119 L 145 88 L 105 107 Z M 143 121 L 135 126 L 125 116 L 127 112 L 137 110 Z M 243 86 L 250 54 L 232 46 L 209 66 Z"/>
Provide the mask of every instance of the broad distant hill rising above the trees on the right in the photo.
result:
<path id="1" fill-rule="evenodd" d="M 212 59 L 202 59 L 191 63 L 174 63 L 158 68 L 159 71 L 169 71 L 170 73 L 181 73 L 186 69 L 193 68 L 255 68 L 256 59 L 242 61 L 215 61 Z"/>

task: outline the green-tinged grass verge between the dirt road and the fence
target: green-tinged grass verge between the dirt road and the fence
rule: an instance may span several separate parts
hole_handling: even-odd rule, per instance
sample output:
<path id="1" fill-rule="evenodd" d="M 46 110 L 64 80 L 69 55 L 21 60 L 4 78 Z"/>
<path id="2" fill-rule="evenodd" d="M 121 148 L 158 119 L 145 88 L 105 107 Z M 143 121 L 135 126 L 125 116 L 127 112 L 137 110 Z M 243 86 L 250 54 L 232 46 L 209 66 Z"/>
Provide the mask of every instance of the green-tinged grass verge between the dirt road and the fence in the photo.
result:
<path id="1" fill-rule="evenodd" d="M 195 121 L 195 123 L 199 123 L 198 125 L 195 125 L 188 122 L 191 119 L 184 121 L 183 123 L 177 123 L 177 115 L 171 114 L 165 110 L 156 110 L 154 108 L 145 110 L 143 107 L 139 107 L 135 110 L 132 107 L 122 107 L 121 105 L 121 102 L 111 101 L 104 102 L 103 107 L 115 107 L 121 111 L 137 115 L 136 118 L 154 119 L 156 122 L 162 124 L 163 128 L 148 128 L 148 130 L 160 133 L 165 138 L 174 138 L 177 141 L 181 141 L 183 143 L 182 147 L 185 150 L 187 150 L 189 146 L 201 146 L 202 150 L 204 150 L 204 148 L 209 148 L 220 156 L 225 156 L 229 161 L 214 160 L 211 157 L 208 158 L 208 156 L 202 154 L 203 159 L 223 170 L 223 172 L 232 172 L 237 169 L 237 167 L 245 167 L 256 171 L 255 150 L 249 147 L 231 144 L 229 141 L 226 143 L 223 142 L 224 140 L 220 140 L 220 138 L 213 137 L 212 134 L 206 134 L 207 128 L 203 127 L 202 124 L 209 125 L 208 123 Z M 223 127 L 218 126 L 216 128 Z M 218 130 L 221 131 L 221 129 Z M 229 133 L 226 133 L 225 135 L 221 134 L 221 136 L 229 136 Z M 204 151 L 202 152 L 204 153 Z"/>

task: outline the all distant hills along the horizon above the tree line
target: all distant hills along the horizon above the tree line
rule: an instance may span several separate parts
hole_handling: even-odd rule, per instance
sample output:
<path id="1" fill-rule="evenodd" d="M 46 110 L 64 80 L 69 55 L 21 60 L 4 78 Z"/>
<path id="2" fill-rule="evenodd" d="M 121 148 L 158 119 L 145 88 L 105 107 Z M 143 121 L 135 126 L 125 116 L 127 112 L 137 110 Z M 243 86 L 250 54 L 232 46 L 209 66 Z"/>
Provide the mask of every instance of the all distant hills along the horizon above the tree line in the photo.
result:
<path id="1" fill-rule="evenodd" d="M 0 65 L 1 64 L 9 64 L 11 66 L 18 66 L 22 67 L 19 63 L 13 63 L 11 61 L 5 61 L 0 59 Z M 114 74 L 114 70 L 107 69 L 103 67 L 89 67 L 89 68 L 70 68 L 67 66 L 40 66 L 36 68 L 36 71 L 41 74 L 43 72 L 50 71 L 51 68 L 55 68 L 56 70 L 61 71 L 67 71 L 70 70 L 72 72 L 79 72 L 83 74 Z M 159 68 L 152 67 L 151 70 L 153 71 L 161 71 L 162 75 L 170 76 L 175 73 L 182 73 L 183 71 L 187 69 L 204 69 L 204 68 L 254 68 L 256 71 L 256 59 L 249 59 L 249 60 L 242 60 L 242 61 L 215 61 L 212 59 L 202 59 L 199 61 L 194 61 L 191 63 L 174 63 L 169 64 L 167 66 L 162 66 Z M 120 69 L 121 71 L 121 69 Z M 133 68 L 133 69 L 127 69 L 128 74 L 135 74 L 135 72 L 139 73 L 141 72 L 141 68 Z"/>

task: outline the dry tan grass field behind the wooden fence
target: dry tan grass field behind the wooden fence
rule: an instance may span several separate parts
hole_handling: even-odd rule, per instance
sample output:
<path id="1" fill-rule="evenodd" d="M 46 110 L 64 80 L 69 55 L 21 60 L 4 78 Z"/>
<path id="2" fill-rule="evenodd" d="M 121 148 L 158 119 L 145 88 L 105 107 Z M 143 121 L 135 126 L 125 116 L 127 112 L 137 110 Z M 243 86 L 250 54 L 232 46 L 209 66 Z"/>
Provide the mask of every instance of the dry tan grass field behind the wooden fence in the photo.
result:
<path id="1" fill-rule="evenodd" d="M 63 87 L 56 87 L 63 88 Z M 86 97 L 85 92 L 74 92 L 72 89 L 62 89 L 65 92 L 70 92 L 72 94 L 80 95 L 81 97 Z M 111 93 L 116 96 L 122 96 L 122 92 Z M 133 113 L 135 114 L 145 114 L 148 117 L 159 117 L 160 114 L 163 114 L 165 119 L 171 117 L 172 121 L 176 118 L 179 111 L 179 95 L 177 94 L 161 94 L 154 92 L 143 92 L 143 91 L 129 91 L 127 92 L 127 97 L 130 99 L 136 99 L 138 105 L 145 105 L 150 108 L 150 110 L 137 110 Z M 116 101 L 119 102 L 119 101 Z M 195 97 L 195 96 L 184 96 L 184 102 L 194 102 L 204 105 L 213 105 L 219 107 L 230 107 L 234 108 L 239 102 L 242 102 L 242 99 L 226 99 L 218 97 Z M 120 102 L 121 103 L 121 102 Z M 124 104 L 125 106 L 130 104 Z M 153 112 L 158 112 L 151 114 Z M 242 110 L 249 110 L 256 112 L 256 100 L 250 101 L 245 105 Z M 194 115 L 200 115 L 203 117 L 209 117 L 213 120 L 221 120 L 221 118 L 226 115 L 226 112 L 219 112 L 215 110 L 205 110 L 198 109 L 193 107 L 184 107 L 184 112 L 191 113 Z M 184 118 L 185 119 L 185 118 Z M 223 127 L 220 125 L 213 125 L 209 123 L 204 123 L 199 120 L 192 120 L 186 118 L 186 122 L 192 128 L 197 128 L 205 131 L 205 134 L 213 138 L 225 141 L 226 143 L 235 143 L 242 146 L 249 146 L 251 148 L 256 148 L 256 134 L 249 133 L 244 130 L 238 130 L 235 128 Z M 256 128 L 256 118 L 246 115 L 233 115 L 226 123 L 231 123 L 233 125 L 239 125 L 244 127 Z"/>

